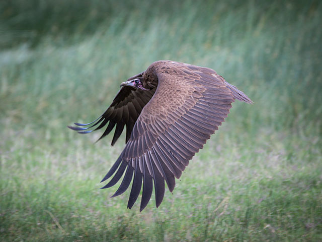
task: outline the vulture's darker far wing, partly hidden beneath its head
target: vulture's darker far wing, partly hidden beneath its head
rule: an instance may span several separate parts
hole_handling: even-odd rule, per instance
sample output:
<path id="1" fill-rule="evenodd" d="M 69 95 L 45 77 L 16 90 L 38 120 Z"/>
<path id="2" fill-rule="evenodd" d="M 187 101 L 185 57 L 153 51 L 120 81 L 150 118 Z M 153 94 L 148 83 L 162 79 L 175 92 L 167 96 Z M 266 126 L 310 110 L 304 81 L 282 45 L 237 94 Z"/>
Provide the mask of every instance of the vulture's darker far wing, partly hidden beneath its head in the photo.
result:
<path id="1" fill-rule="evenodd" d="M 124 86 L 116 94 L 112 104 L 96 120 L 88 124 L 74 123 L 78 127 L 68 126 L 68 128 L 75 130 L 81 134 L 87 134 L 103 128 L 108 123 L 105 132 L 100 137 L 100 139 L 102 139 L 103 137 L 108 135 L 116 125 L 112 139 L 112 145 L 114 145 L 117 139 L 122 134 L 124 126 L 126 126 L 127 143 L 130 139 L 133 126 L 138 116 L 140 115 L 142 108 L 146 105 L 146 103 L 148 103 L 154 92 L 155 89 L 151 89 L 150 91 L 142 91 L 132 87 Z M 83 128 L 84 126 L 88 127 Z"/>

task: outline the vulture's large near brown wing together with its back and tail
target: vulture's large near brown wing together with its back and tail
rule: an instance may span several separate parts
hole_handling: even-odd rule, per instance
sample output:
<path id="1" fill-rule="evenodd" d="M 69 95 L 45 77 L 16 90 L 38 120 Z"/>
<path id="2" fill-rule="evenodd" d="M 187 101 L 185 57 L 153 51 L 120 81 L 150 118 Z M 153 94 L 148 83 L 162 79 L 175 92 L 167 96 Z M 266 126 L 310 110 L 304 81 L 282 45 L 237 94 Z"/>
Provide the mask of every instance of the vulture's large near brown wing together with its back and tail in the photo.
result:
<path id="1" fill-rule="evenodd" d="M 189 160 L 224 122 L 234 99 L 252 101 L 228 84 L 213 70 L 174 63 L 157 69 L 158 86 L 139 115 L 130 139 L 102 181 L 113 178 L 103 188 L 112 187 L 125 171 L 113 197 L 125 192 L 133 173 L 128 201 L 131 209 L 142 187 L 140 211 L 155 190 L 156 207 L 164 198 L 165 181 L 175 188 Z"/>

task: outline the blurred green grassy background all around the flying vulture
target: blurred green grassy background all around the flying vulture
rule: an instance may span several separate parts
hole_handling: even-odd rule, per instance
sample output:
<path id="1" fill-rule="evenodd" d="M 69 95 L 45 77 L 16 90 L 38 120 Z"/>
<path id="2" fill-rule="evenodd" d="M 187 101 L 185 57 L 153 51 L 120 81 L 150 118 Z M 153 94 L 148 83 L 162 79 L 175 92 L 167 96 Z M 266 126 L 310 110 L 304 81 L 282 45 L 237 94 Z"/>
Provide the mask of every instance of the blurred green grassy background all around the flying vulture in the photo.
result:
<path id="1" fill-rule="evenodd" d="M 322 240 L 320 1 L 0 2 L 0 240 Z M 90 122 L 159 59 L 236 101 L 173 194 L 139 213 L 99 181 L 124 147 Z"/>

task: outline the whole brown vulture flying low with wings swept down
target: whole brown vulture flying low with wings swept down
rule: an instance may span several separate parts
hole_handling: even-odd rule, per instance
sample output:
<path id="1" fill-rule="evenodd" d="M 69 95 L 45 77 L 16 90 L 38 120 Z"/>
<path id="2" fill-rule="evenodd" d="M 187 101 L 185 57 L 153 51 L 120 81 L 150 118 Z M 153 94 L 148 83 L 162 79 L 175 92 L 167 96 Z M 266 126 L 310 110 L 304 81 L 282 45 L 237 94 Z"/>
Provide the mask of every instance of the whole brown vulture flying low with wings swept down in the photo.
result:
<path id="1" fill-rule="evenodd" d="M 102 189 L 114 186 L 125 172 L 112 197 L 121 195 L 134 176 L 127 207 L 132 208 L 143 183 L 140 211 L 153 185 L 156 207 L 164 198 L 165 181 L 174 190 L 175 178 L 224 122 L 235 99 L 253 103 L 214 70 L 174 61 L 154 62 L 121 87 L 100 117 L 68 128 L 87 134 L 107 125 L 102 139 L 116 126 L 114 145 L 126 126 L 125 148 L 102 179 L 113 176 Z"/>

